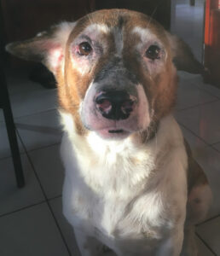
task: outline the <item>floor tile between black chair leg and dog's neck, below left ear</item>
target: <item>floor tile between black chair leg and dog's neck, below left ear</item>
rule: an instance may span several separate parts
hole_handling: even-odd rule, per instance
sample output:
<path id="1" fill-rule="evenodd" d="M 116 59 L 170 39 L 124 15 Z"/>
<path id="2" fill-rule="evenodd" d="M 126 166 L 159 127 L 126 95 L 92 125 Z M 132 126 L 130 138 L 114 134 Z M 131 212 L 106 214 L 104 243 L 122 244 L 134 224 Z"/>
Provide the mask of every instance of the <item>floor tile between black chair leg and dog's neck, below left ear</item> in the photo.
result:
<path id="1" fill-rule="evenodd" d="M 56 93 L 56 90 L 45 89 L 24 91 L 10 96 L 14 119 L 57 108 Z"/>

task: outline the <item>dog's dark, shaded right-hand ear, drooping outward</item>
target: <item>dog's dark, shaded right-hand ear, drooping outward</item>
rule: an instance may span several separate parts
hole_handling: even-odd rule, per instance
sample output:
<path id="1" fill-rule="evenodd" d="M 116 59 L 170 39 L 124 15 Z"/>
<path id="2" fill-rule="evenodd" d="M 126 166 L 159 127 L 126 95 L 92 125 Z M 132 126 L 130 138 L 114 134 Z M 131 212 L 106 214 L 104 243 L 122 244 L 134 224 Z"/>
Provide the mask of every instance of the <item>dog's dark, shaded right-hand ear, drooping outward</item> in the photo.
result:
<path id="1" fill-rule="evenodd" d="M 188 73 L 204 74 L 205 68 L 196 60 L 188 44 L 184 43 L 182 39 L 175 35 L 167 34 L 171 44 L 173 62 L 177 69 Z"/>

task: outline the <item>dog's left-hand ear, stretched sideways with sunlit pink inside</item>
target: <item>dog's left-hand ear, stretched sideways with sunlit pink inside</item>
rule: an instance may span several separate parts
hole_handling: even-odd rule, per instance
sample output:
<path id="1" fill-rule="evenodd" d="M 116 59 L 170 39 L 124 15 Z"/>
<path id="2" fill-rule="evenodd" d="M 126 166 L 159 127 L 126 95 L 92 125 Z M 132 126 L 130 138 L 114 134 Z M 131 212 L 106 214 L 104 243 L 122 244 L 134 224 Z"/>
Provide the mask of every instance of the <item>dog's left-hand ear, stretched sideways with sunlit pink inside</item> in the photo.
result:
<path id="1" fill-rule="evenodd" d="M 55 74 L 64 60 L 65 45 L 74 26 L 74 22 L 62 22 L 32 39 L 7 44 L 6 50 L 26 61 L 42 62 Z"/>

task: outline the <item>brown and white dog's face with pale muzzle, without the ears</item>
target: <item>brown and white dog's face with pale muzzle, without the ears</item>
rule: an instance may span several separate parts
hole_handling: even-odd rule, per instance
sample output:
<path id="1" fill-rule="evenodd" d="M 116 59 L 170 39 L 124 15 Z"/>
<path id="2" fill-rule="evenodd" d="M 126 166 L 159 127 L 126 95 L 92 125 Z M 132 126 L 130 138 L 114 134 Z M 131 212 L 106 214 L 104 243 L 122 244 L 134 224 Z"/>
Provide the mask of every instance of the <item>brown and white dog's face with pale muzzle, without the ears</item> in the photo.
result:
<path id="1" fill-rule="evenodd" d="M 66 85 L 77 91 L 80 120 L 103 138 L 146 131 L 155 115 L 173 106 L 169 40 L 145 15 L 117 10 L 86 16 L 72 30 L 66 56 Z"/>

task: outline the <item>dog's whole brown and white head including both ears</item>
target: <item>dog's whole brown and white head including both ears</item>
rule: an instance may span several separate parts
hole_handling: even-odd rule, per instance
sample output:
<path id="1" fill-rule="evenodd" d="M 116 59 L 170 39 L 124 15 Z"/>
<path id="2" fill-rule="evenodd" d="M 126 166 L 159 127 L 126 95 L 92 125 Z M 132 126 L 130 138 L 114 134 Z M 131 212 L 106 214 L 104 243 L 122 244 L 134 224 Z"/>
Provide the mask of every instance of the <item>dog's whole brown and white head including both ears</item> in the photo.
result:
<path id="1" fill-rule="evenodd" d="M 119 9 L 97 11 L 7 46 L 55 74 L 61 108 L 72 113 L 78 133 L 96 131 L 106 139 L 152 135 L 153 124 L 175 103 L 173 60 L 183 67 L 192 63 L 184 48 L 188 52 L 150 17 Z"/>

